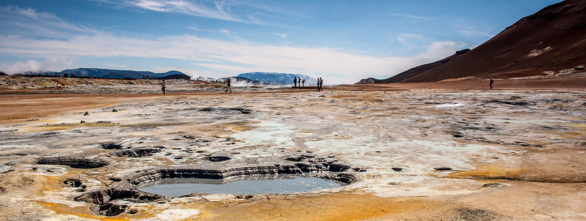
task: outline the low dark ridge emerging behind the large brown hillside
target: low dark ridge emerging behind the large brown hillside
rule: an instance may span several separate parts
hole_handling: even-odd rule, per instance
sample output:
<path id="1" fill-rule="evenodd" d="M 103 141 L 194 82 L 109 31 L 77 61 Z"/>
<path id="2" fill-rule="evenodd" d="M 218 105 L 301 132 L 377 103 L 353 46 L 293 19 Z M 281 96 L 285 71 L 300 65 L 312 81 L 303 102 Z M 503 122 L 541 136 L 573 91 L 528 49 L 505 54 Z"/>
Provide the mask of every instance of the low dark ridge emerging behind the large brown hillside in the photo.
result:
<path id="1" fill-rule="evenodd" d="M 407 71 L 400 72 L 399 74 L 394 75 L 393 77 L 390 77 L 390 78 L 386 78 L 383 80 L 374 79 L 374 78 L 366 78 L 366 79 L 360 80 L 359 82 L 356 82 L 354 84 L 391 84 L 391 83 L 400 82 L 400 81 L 406 80 L 408 78 L 414 77 L 415 75 L 421 74 L 425 71 L 429 71 L 432 68 L 438 67 L 442 64 L 448 63 L 448 61 L 451 61 L 452 59 L 459 57 L 468 51 L 470 51 L 470 49 L 456 51 L 456 53 L 452 54 L 452 56 L 449 56 L 449 57 L 444 58 L 439 61 L 435 61 L 433 63 L 419 65 L 419 66 L 411 68 Z"/>

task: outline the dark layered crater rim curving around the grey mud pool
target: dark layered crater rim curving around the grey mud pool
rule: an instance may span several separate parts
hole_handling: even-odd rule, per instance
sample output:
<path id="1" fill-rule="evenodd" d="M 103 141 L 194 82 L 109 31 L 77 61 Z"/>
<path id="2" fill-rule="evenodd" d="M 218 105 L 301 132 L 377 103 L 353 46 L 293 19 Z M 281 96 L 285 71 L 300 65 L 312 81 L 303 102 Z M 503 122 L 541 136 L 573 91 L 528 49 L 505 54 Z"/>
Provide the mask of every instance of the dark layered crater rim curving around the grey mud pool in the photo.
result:
<path id="1" fill-rule="evenodd" d="M 90 209 L 104 216 L 116 216 L 125 211 L 127 206 L 117 203 L 119 199 L 130 202 L 166 202 L 172 198 L 188 197 L 190 195 L 166 197 L 158 194 L 139 191 L 137 185 L 147 182 L 169 178 L 206 178 L 229 179 L 253 175 L 278 175 L 278 174 L 316 174 L 315 177 L 330 179 L 333 181 L 352 184 L 361 179 L 355 174 L 350 174 L 351 167 L 344 164 L 327 163 L 294 163 L 275 164 L 255 167 L 231 167 L 222 169 L 200 167 L 159 167 L 149 170 L 135 171 L 121 181 L 114 182 L 110 188 L 85 192 L 74 198 L 75 201 L 94 203 Z M 323 172 L 324 175 L 318 174 Z M 263 194 L 264 195 L 264 194 Z M 278 194 L 276 194 L 278 195 Z"/>

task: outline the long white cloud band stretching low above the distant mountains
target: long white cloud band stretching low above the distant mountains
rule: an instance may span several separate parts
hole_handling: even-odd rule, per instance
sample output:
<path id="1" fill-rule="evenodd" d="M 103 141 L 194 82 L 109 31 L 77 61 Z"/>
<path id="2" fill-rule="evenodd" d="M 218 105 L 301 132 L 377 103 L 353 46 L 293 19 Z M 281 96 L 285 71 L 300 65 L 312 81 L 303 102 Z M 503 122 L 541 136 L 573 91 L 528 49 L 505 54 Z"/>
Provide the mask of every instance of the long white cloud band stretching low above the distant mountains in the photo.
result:
<path id="1" fill-rule="evenodd" d="M 346 76 L 331 80 L 332 84 L 351 83 L 373 76 L 390 77 L 416 65 L 449 56 L 461 47 L 455 42 L 435 42 L 412 57 L 374 57 L 329 47 L 277 46 L 192 35 L 132 39 L 100 34 L 76 35 L 68 40 L 0 36 L 0 53 L 3 54 L 36 56 L 62 51 L 71 56 L 172 58 L 196 61 L 197 65 L 223 74 L 264 70 Z"/>

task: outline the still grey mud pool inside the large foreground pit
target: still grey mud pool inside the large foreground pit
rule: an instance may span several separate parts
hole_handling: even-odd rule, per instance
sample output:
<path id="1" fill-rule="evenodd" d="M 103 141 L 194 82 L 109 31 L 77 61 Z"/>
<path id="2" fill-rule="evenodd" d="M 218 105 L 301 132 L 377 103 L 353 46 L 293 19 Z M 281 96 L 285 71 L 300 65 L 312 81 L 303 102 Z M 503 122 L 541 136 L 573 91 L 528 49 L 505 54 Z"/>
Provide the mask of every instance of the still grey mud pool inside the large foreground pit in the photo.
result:
<path id="1" fill-rule="evenodd" d="M 308 175 L 279 174 L 228 179 L 174 178 L 139 185 L 143 192 L 163 196 L 182 196 L 193 192 L 206 194 L 290 194 L 341 187 L 342 182 Z"/>

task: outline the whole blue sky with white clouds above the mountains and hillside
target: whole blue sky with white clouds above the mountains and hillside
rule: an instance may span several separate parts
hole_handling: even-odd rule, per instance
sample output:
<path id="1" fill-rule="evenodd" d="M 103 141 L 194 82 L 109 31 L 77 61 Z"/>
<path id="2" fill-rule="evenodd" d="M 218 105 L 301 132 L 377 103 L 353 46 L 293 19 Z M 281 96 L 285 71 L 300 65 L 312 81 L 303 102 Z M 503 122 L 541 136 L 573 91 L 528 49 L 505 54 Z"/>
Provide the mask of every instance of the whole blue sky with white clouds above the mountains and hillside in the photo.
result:
<path id="1" fill-rule="evenodd" d="M 2 0 L 0 70 L 267 71 L 350 84 L 472 49 L 557 2 Z"/>

